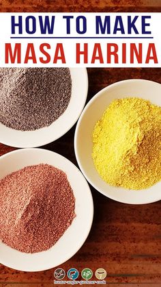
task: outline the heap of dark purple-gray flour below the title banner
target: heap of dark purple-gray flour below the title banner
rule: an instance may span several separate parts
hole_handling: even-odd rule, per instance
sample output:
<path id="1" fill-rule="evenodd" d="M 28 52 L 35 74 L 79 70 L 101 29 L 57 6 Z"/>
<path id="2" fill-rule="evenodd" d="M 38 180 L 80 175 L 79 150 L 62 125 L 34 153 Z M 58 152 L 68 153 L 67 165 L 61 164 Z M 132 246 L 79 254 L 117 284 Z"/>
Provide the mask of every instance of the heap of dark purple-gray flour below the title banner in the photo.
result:
<path id="1" fill-rule="evenodd" d="M 70 102 L 69 68 L 0 68 L 0 122 L 29 131 L 47 127 Z"/>

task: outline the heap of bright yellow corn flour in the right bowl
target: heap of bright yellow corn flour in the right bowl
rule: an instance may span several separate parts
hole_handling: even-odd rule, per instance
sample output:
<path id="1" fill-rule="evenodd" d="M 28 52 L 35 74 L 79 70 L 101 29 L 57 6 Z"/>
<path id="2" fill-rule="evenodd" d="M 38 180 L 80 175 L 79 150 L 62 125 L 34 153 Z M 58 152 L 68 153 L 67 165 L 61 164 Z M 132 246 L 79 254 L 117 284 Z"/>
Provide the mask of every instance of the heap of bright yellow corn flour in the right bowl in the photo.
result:
<path id="1" fill-rule="evenodd" d="M 117 99 L 93 130 L 92 158 L 111 186 L 143 189 L 161 179 L 161 108 L 138 98 Z"/>

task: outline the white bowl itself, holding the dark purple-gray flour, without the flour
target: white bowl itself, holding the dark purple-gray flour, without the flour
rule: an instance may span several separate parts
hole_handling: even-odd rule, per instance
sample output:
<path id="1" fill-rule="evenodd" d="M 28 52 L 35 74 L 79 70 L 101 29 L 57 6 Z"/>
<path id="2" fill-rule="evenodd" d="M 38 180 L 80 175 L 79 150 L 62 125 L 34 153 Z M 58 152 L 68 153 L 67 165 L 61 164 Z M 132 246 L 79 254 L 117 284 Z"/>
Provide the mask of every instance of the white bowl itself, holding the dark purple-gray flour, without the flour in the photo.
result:
<path id="1" fill-rule="evenodd" d="M 48 127 L 35 131 L 18 131 L 0 123 L 0 142 L 12 147 L 40 147 L 53 142 L 68 132 L 80 116 L 88 91 L 86 68 L 70 68 L 72 96 L 65 112 Z"/>

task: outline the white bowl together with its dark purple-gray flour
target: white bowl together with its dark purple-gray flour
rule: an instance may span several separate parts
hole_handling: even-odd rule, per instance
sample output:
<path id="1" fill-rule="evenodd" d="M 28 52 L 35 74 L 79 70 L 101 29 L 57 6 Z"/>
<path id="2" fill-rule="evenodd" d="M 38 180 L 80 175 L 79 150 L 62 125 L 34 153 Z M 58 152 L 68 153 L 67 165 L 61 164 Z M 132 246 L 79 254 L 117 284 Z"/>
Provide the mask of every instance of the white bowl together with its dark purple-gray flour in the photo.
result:
<path id="1" fill-rule="evenodd" d="M 0 142 L 40 147 L 68 132 L 87 99 L 86 68 L 0 68 Z"/>

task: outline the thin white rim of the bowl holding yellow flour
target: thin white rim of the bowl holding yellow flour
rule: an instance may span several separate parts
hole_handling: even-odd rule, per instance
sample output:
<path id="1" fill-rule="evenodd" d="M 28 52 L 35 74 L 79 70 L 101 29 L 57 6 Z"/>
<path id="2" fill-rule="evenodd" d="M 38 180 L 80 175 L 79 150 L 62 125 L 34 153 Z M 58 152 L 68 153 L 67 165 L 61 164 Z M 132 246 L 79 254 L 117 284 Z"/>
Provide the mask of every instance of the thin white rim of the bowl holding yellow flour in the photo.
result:
<path id="1" fill-rule="evenodd" d="M 107 195 L 106 192 L 104 192 L 102 190 L 102 188 L 99 188 L 93 181 L 91 181 L 91 179 L 89 179 L 89 176 L 87 174 L 87 172 L 85 171 L 85 169 L 83 168 L 82 164 L 81 164 L 81 160 L 79 158 L 79 155 L 78 155 L 78 146 L 77 146 L 77 140 L 78 140 L 78 130 L 79 130 L 79 127 L 81 125 L 81 121 L 82 121 L 82 118 L 84 116 L 84 114 L 87 112 L 89 106 L 93 103 L 93 101 L 95 101 L 96 99 L 98 99 L 98 97 L 100 97 L 100 95 L 102 95 L 102 92 L 105 92 L 106 90 L 109 90 L 110 88 L 113 88 L 114 86 L 118 86 L 119 84 L 123 84 L 125 82 L 149 82 L 149 83 L 153 83 L 153 84 L 156 84 L 158 86 L 160 86 L 161 84 L 158 83 L 158 82 L 154 82 L 154 81 L 150 81 L 148 79 L 123 79 L 119 82 L 115 82 L 113 84 L 110 84 L 104 88 L 102 88 L 102 90 L 98 91 L 96 93 L 96 95 L 94 95 L 90 100 L 89 102 L 87 103 L 87 105 L 85 106 L 83 112 L 81 113 L 81 116 L 80 118 L 78 119 L 78 122 L 76 124 L 76 129 L 75 129 L 75 133 L 74 133 L 74 153 L 75 153 L 75 156 L 76 156 L 76 161 L 78 162 L 78 166 L 79 168 L 81 169 L 81 172 L 83 173 L 83 175 L 85 176 L 85 178 L 87 179 L 87 181 L 89 182 L 89 184 L 91 184 L 91 186 L 93 186 L 93 188 L 96 189 L 96 191 L 102 193 L 102 195 L 104 195 L 105 197 L 108 197 L 109 199 L 113 199 L 117 202 L 120 202 L 120 203 L 126 203 L 126 204 L 129 204 L 129 205 L 141 205 L 141 204 L 148 204 L 148 203 L 153 203 L 153 202 L 157 202 L 157 201 L 160 201 L 161 200 L 161 197 L 160 199 L 155 199 L 155 200 L 145 200 L 145 201 L 142 201 L 142 202 L 133 202 L 133 203 L 130 203 L 126 200 L 118 200 L 117 197 L 113 196 L 111 197 L 111 195 Z M 146 198 L 145 198 L 146 199 Z"/>

